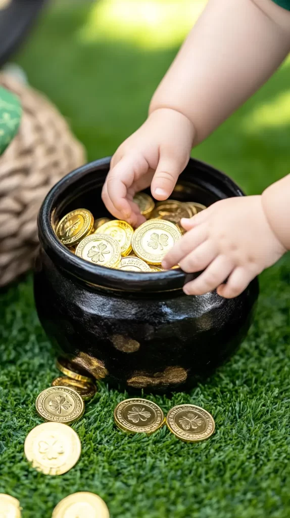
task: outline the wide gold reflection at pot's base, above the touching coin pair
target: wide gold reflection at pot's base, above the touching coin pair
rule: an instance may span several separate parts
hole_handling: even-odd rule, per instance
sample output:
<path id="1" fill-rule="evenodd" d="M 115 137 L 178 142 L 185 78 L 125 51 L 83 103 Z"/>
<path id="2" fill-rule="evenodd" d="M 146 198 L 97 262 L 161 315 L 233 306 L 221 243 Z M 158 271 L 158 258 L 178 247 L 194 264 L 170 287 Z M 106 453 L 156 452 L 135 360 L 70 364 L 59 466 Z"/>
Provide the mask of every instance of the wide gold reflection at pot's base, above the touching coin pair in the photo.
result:
<path id="1" fill-rule="evenodd" d="M 182 383 L 187 379 L 187 371 L 182 367 L 166 367 L 163 372 L 156 372 L 153 376 L 148 376 L 145 372 L 135 372 L 134 376 L 127 380 L 129 386 L 135 389 L 145 389 L 145 387 L 167 386 L 173 383 Z"/>

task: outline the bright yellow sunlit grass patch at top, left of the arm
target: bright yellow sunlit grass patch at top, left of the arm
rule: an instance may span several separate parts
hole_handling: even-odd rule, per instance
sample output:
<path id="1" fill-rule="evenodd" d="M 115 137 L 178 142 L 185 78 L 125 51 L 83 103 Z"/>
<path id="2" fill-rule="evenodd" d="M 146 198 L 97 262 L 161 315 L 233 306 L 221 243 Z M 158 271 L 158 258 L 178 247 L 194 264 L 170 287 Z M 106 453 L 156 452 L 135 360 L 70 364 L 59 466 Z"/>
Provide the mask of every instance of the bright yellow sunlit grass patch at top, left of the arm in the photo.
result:
<path id="1" fill-rule="evenodd" d="M 111 39 L 143 48 L 180 45 L 205 0 L 100 0 L 79 31 L 82 42 Z"/>

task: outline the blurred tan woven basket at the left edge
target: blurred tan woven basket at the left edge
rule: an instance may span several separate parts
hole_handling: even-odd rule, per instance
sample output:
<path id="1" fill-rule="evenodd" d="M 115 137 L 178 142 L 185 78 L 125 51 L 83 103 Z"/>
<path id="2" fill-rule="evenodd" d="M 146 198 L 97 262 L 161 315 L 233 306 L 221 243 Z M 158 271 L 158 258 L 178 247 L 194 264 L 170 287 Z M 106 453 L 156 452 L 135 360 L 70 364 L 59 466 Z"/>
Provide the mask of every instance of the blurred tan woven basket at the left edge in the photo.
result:
<path id="1" fill-rule="evenodd" d="M 0 286 L 32 267 L 38 246 L 37 214 L 43 198 L 69 171 L 86 161 L 81 143 L 42 94 L 0 74 L 0 85 L 18 95 L 18 134 L 0 156 Z"/>

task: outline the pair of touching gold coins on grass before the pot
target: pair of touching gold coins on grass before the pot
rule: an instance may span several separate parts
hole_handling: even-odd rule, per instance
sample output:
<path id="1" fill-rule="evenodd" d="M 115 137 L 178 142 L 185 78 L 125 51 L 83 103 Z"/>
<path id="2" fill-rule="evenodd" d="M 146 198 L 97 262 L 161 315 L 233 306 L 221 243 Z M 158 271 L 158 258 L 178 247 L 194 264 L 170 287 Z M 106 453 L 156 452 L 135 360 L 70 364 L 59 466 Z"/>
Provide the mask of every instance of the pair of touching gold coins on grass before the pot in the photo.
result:
<path id="1" fill-rule="evenodd" d="M 156 403 L 142 398 L 121 401 L 115 408 L 116 425 L 127 433 L 152 434 L 165 423 L 172 434 L 185 442 L 208 439 L 215 431 L 215 421 L 209 412 L 196 405 L 177 405 L 164 418 Z"/>

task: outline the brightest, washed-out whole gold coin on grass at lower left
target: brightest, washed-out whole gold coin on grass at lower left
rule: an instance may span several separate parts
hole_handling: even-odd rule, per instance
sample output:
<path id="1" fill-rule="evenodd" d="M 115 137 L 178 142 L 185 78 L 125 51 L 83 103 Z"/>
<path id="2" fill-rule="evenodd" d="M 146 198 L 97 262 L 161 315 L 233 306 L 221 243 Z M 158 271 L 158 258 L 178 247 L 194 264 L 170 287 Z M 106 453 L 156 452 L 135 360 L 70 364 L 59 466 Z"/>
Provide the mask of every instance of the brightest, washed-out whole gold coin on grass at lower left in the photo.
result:
<path id="1" fill-rule="evenodd" d="M 37 471 L 62 475 L 77 464 L 81 455 L 77 433 L 62 423 L 42 423 L 29 432 L 24 453 Z"/>

